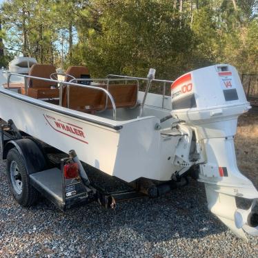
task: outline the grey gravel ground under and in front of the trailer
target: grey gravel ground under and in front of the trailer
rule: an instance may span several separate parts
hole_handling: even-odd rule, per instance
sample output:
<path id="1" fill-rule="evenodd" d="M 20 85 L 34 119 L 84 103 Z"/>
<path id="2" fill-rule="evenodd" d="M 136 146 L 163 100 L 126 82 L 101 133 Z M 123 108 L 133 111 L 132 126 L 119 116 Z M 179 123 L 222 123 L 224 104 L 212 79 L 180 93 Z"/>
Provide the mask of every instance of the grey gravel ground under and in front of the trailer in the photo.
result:
<path id="1" fill-rule="evenodd" d="M 258 237 L 237 239 L 206 208 L 204 186 L 105 210 L 99 204 L 57 210 L 42 199 L 22 208 L 0 161 L 0 257 L 258 257 Z"/>

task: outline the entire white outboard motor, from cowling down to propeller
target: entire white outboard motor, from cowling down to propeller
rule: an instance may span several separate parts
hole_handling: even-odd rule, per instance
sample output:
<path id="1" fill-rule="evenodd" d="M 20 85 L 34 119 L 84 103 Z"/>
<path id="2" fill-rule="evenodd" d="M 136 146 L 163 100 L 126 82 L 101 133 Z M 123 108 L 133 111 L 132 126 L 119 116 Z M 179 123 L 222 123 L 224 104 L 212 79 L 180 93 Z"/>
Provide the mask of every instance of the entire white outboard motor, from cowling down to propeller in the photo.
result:
<path id="1" fill-rule="evenodd" d="M 199 181 L 208 208 L 239 237 L 258 235 L 258 192 L 235 157 L 237 118 L 250 109 L 237 70 L 221 64 L 189 72 L 172 83 L 171 97 L 172 116 L 192 128 L 204 157 Z M 249 210 L 237 208 L 236 197 L 251 199 Z"/>

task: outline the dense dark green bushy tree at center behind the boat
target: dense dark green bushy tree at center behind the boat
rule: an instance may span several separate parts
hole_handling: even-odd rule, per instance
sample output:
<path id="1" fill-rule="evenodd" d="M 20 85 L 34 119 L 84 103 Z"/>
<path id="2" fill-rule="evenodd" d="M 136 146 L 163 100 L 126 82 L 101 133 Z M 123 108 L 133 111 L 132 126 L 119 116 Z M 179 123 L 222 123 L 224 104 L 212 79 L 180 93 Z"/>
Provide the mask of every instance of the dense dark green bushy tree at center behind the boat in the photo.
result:
<path id="1" fill-rule="evenodd" d="M 186 69 L 195 41 L 190 26 L 170 1 L 101 2 L 97 10 L 101 10 L 101 30 L 81 34 L 83 44 L 79 44 L 94 74 L 146 75 L 152 66 L 162 68 L 158 70 L 160 77 L 170 77 Z"/>

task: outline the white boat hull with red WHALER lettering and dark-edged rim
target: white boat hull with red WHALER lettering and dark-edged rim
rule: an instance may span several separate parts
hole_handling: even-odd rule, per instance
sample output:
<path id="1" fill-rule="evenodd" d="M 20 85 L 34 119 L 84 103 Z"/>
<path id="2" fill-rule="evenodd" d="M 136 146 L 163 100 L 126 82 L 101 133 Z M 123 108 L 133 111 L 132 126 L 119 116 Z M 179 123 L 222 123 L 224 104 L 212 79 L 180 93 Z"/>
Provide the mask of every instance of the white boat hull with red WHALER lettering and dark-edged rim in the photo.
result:
<path id="1" fill-rule="evenodd" d="M 50 146 L 124 181 L 172 176 L 178 137 L 162 137 L 157 117 L 114 121 L 19 95 L 0 88 L 0 117 Z M 174 169 L 175 170 L 175 169 Z"/>

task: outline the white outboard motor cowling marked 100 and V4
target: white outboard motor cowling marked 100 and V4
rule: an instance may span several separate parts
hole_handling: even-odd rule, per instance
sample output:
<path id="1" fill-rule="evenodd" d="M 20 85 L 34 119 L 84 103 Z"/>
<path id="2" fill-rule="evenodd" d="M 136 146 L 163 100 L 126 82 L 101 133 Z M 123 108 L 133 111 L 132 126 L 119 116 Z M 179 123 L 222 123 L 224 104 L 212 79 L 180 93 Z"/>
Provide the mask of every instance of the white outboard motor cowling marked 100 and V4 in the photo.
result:
<path id="1" fill-rule="evenodd" d="M 184 121 L 214 121 L 250 109 L 238 72 L 230 65 L 209 66 L 179 77 L 172 83 L 171 97 L 172 115 Z"/>

